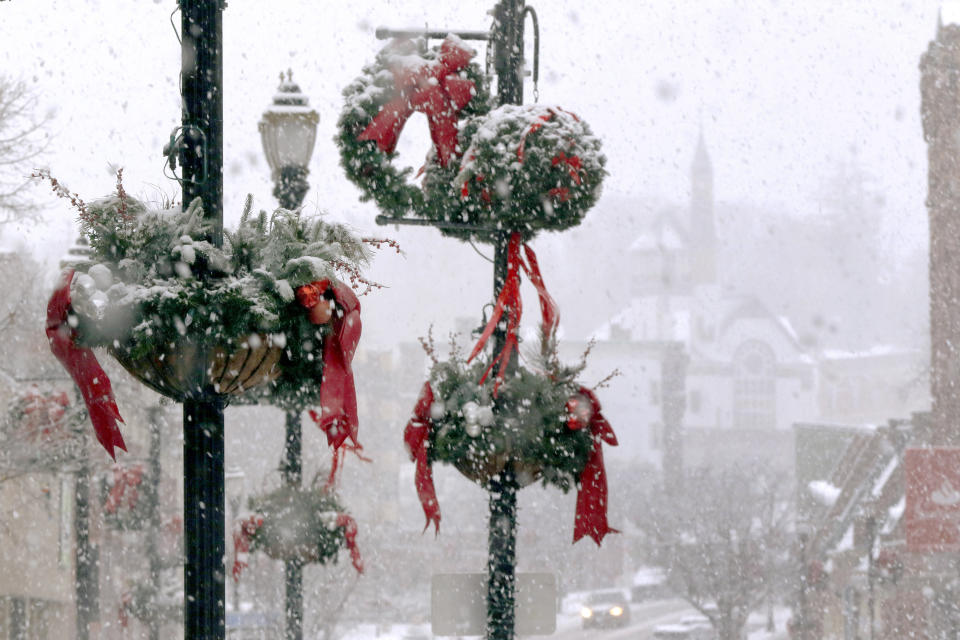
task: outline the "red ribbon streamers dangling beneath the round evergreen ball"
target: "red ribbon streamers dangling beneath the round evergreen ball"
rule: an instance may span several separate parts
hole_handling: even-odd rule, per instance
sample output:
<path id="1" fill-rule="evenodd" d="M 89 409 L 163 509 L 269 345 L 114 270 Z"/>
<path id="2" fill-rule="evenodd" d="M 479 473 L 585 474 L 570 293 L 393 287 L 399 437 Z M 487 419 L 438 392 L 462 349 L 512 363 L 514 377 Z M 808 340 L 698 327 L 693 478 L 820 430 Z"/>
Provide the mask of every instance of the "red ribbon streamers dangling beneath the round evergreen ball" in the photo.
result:
<path id="1" fill-rule="evenodd" d="M 490 361 L 486 371 L 483 372 L 483 376 L 480 378 L 480 384 L 483 384 L 494 366 L 499 365 L 497 369 L 497 381 L 493 385 L 494 396 L 497 395 L 497 389 L 503 382 L 503 377 L 506 374 L 512 352 L 518 350 L 517 332 L 520 329 L 520 317 L 523 313 L 523 305 L 520 300 L 521 268 L 527 273 L 530 282 L 536 288 L 537 295 L 540 298 L 540 313 L 543 317 L 542 328 L 544 335 L 547 337 L 552 336 L 560 322 L 560 312 L 557 309 L 557 303 L 554 302 L 553 298 L 547 292 L 547 287 L 543 282 L 540 266 L 537 263 L 537 254 L 533 252 L 533 249 L 529 245 L 524 244 L 523 250 L 527 256 L 527 262 L 524 262 L 523 258 L 520 257 L 520 245 L 520 233 L 514 231 L 510 235 L 510 244 L 507 246 L 507 278 L 503 283 L 503 288 L 500 290 L 500 295 L 497 296 L 497 303 L 494 306 L 493 314 L 491 314 L 487 326 L 484 327 L 483 333 L 480 334 L 480 339 L 477 340 L 477 344 L 474 345 L 473 351 L 470 352 L 470 357 L 467 358 L 467 362 L 469 363 L 483 350 L 487 340 L 490 339 L 490 336 L 493 335 L 494 330 L 497 328 L 500 318 L 504 312 L 506 312 L 508 314 L 507 335 L 504 340 L 503 350 Z"/>

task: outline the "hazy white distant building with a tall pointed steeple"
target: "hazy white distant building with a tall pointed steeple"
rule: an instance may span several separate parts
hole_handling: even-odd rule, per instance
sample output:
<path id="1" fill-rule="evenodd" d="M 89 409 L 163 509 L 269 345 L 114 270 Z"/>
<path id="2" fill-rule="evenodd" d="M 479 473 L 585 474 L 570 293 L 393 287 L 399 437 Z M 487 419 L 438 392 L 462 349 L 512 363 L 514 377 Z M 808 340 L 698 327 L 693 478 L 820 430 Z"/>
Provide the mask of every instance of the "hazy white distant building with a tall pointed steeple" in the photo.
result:
<path id="1" fill-rule="evenodd" d="M 817 362 L 786 318 L 755 297 L 726 293 L 718 260 L 713 167 L 701 134 L 686 213 L 661 211 L 629 247 L 632 287 L 622 310 L 593 333 L 589 370 L 623 376 L 604 407 L 626 453 L 659 462 L 668 444 L 666 345 L 686 356 L 680 426 L 689 464 L 757 456 L 789 467 L 790 426 L 818 414 Z M 567 355 L 582 345 L 565 345 Z M 667 447 L 669 449 L 669 447 Z"/>

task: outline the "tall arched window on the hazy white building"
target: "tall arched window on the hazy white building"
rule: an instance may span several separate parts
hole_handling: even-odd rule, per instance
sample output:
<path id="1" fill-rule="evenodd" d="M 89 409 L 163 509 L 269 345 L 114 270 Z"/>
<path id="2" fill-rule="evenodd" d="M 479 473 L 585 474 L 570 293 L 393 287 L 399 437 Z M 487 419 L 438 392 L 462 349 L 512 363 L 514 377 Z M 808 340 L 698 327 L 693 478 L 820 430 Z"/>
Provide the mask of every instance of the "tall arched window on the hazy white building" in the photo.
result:
<path id="1" fill-rule="evenodd" d="M 751 340 L 733 357 L 733 426 L 774 429 L 777 426 L 776 359 L 766 344 Z"/>

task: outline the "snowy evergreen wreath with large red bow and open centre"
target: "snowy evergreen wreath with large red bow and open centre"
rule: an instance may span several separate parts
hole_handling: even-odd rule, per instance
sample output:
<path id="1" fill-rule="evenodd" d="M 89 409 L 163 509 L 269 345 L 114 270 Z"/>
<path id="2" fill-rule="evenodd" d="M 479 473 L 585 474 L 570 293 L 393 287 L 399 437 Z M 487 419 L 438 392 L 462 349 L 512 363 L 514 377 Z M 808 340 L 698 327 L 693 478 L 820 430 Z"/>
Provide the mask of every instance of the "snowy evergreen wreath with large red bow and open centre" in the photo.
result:
<path id="1" fill-rule="evenodd" d="M 470 62 L 473 55 L 452 35 L 431 48 L 423 41 L 394 41 L 344 89 L 336 137 L 340 164 L 364 200 L 396 218 L 459 219 L 453 179 L 463 150 L 460 122 L 489 110 L 486 79 Z M 400 132 L 414 112 L 427 116 L 433 141 L 422 189 L 407 181 L 412 168 L 392 164 Z"/>

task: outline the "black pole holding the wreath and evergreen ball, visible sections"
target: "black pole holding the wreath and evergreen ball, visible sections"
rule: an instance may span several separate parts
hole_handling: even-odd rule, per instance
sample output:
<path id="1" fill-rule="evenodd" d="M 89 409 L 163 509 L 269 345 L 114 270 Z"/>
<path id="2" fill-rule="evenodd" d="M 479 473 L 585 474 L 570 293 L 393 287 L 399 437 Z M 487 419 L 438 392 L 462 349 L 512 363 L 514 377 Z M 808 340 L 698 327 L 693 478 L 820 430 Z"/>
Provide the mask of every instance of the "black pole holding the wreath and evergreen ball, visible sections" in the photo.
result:
<path id="1" fill-rule="evenodd" d="M 501 0 L 494 7 L 491 44 L 501 105 L 523 103 L 523 4 L 524 0 Z M 509 240 L 507 233 L 497 235 L 493 258 L 494 300 L 507 279 Z M 503 350 L 505 341 L 504 330 L 498 326 L 493 334 L 494 353 Z M 512 358 L 511 362 L 515 363 L 516 359 Z M 515 637 L 518 490 L 514 469 L 509 464 L 490 482 L 487 640 Z"/>

